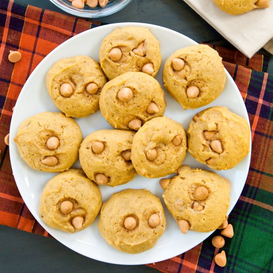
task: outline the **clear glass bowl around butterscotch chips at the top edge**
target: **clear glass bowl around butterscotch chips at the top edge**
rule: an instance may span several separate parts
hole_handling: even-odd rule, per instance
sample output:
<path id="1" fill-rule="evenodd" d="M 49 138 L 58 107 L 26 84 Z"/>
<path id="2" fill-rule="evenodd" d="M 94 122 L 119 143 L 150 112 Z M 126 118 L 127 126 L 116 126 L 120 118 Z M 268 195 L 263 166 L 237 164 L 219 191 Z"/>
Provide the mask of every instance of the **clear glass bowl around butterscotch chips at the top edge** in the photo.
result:
<path id="1" fill-rule="evenodd" d="M 85 18 L 97 18 L 107 16 L 121 10 L 132 0 L 112 0 L 109 1 L 108 4 L 104 7 L 100 7 L 99 5 L 97 5 L 96 7 L 91 8 L 88 5 L 85 5 L 83 9 L 73 7 L 71 5 L 71 2 L 68 0 L 50 1 L 72 15 Z"/>

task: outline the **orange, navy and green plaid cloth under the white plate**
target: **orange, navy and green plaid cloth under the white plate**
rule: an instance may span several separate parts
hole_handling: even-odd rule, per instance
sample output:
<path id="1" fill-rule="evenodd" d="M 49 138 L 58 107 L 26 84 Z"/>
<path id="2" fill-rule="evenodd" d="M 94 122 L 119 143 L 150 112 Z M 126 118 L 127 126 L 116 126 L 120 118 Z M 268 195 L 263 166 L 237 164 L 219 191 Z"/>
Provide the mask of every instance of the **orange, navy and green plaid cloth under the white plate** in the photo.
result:
<path id="1" fill-rule="evenodd" d="M 33 69 L 59 44 L 99 23 L 13 1 L 0 0 L 0 224 L 50 236 L 24 204 L 12 176 L 8 146 L 12 107 Z M 219 252 L 207 238 L 192 250 L 148 266 L 162 272 L 273 272 L 273 75 L 266 73 L 268 59 L 260 54 L 248 59 L 235 50 L 214 47 L 235 80 L 248 111 L 252 156 L 246 185 L 229 215 L 235 235 L 223 247 L 227 265 L 213 257 Z M 22 60 L 8 61 L 10 50 Z"/>

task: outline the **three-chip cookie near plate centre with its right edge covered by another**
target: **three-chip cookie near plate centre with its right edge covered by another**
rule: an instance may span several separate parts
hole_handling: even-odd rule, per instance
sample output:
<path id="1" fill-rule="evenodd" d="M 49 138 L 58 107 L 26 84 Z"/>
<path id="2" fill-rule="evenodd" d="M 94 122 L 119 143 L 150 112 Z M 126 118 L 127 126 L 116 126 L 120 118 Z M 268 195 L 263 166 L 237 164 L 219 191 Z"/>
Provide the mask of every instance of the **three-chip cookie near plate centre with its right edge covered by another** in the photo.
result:
<path id="1" fill-rule="evenodd" d="M 87 177 L 100 185 L 117 186 L 133 180 L 131 161 L 135 132 L 99 130 L 86 136 L 79 149 L 79 161 Z"/>

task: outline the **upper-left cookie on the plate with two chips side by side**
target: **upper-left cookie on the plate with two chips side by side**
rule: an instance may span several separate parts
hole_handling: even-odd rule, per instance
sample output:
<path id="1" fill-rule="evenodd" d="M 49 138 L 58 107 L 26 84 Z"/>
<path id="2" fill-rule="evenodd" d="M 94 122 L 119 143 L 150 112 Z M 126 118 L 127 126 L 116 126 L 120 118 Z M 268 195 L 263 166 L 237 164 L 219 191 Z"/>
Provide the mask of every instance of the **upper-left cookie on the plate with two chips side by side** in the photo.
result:
<path id="1" fill-rule="evenodd" d="M 107 79 L 99 64 L 87 56 L 56 62 L 47 72 L 46 86 L 54 104 L 67 117 L 83 118 L 99 109 Z"/>

